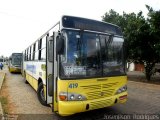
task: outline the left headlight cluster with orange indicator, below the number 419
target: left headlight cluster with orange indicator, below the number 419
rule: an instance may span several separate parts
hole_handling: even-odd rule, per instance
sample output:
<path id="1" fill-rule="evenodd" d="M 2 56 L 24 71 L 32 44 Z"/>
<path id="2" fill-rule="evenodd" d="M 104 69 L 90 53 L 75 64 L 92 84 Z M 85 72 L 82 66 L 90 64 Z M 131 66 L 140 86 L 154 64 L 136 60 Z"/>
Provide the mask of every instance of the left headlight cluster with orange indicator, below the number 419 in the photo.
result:
<path id="1" fill-rule="evenodd" d="M 83 101 L 86 97 L 77 93 L 60 92 L 59 99 L 61 101 Z"/>

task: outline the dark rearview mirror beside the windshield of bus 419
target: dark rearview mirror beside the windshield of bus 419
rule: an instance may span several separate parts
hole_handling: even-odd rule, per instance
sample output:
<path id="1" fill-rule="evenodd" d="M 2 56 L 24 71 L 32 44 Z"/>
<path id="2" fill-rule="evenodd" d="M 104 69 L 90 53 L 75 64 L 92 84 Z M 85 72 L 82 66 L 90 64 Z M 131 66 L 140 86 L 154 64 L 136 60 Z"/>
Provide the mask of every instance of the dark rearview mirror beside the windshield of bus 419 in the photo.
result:
<path id="1" fill-rule="evenodd" d="M 64 52 L 64 36 L 58 35 L 56 37 L 56 53 L 58 55 L 63 54 Z"/>

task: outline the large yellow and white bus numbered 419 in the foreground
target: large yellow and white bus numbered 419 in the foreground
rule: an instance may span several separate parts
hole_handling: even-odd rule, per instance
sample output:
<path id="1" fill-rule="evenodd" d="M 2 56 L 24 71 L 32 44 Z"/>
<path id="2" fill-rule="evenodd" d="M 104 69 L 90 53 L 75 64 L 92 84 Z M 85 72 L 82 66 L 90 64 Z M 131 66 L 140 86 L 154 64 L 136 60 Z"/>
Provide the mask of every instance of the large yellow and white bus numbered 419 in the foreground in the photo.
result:
<path id="1" fill-rule="evenodd" d="M 62 16 L 23 52 L 23 76 L 62 116 L 124 103 L 123 43 L 116 25 Z"/>

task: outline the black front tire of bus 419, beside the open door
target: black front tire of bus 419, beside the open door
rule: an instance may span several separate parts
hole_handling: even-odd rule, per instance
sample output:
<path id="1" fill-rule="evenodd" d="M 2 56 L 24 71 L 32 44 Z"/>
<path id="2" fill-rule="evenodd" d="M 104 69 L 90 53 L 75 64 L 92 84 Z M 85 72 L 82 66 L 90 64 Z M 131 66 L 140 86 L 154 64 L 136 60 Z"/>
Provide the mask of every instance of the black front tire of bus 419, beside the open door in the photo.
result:
<path id="1" fill-rule="evenodd" d="M 48 106 L 47 102 L 45 101 L 43 82 L 39 83 L 38 85 L 37 96 L 38 96 L 39 102 L 42 105 Z"/>

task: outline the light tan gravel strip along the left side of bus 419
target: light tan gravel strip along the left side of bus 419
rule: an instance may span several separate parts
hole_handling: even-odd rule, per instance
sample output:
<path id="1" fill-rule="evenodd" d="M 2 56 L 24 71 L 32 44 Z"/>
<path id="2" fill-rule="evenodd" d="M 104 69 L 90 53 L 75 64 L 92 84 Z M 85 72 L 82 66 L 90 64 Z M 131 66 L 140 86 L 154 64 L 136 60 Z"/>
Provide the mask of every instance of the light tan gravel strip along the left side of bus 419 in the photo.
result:
<path id="1" fill-rule="evenodd" d="M 52 114 L 50 107 L 39 103 L 36 91 L 29 84 L 25 84 L 20 74 L 7 71 L 6 85 L 10 101 L 15 105 L 12 114 Z"/>

